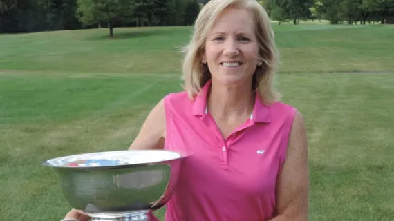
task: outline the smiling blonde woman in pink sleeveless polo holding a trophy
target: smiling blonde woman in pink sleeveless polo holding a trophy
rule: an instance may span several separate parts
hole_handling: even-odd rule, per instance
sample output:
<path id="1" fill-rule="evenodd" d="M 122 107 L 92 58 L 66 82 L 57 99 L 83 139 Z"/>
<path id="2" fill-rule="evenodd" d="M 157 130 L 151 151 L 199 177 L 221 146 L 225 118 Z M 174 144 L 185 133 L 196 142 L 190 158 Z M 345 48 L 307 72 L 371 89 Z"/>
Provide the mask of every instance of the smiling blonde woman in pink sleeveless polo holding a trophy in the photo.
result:
<path id="1" fill-rule="evenodd" d="M 265 10 L 209 1 L 185 52 L 185 91 L 165 96 L 130 146 L 194 153 L 165 220 L 308 220 L 306 130 L 273 89 L 278 55 Z"/>

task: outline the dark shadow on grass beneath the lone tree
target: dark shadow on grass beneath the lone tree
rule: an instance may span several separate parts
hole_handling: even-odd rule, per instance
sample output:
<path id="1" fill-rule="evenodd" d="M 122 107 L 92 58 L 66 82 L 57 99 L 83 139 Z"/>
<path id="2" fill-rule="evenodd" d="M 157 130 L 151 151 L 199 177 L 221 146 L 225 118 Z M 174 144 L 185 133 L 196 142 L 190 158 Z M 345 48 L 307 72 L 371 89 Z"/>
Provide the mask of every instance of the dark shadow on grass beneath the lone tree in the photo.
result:
<path id="1" fill-rule="evenodd" d="M 124 32 L 124 30 L 118 30 L 117 28 L 113 29 L 113 37 L 109 37 L 109 29 L 105 35 L 97 35 L 92 37 L 87 37 L 86 41 L 101 41 L 101 40 L 122 40 L 122 39 L 133 39 L 133 38 L 142 38 L 149 37 L 151 35 L 165 35 L 173 32 L 173 30 L 169 29 L 147 29 L 144 30 L 142 28 L 135 29 L 133 31 Z"/>

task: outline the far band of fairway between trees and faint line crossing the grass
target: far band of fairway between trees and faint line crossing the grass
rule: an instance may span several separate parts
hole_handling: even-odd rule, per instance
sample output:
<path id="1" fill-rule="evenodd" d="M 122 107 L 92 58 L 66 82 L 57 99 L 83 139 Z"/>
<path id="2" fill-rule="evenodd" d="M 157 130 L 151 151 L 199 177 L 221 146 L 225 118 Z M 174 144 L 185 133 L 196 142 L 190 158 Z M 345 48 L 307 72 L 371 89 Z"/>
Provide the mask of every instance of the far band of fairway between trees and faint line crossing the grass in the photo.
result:
<path id="1" fill-rule="evenodd" d="M 393 26 L 274 24 L 283 73 L 394 70 Z M 0 67 L 80 73 L 171 73 L 180 70 L 191 28 L 118 28 L 1 36 Z"/>

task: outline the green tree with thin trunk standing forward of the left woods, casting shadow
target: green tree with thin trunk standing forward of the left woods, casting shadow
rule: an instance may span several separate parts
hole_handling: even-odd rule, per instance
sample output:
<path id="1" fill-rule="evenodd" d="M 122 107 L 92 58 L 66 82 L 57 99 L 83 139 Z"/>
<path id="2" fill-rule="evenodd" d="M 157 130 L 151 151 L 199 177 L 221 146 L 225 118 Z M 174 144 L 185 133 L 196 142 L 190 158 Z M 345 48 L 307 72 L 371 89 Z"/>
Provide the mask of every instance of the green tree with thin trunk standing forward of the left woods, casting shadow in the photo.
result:
<path id="1" fill-rule="evenodd" d="M 105 22 L 109 36 L 113 37 L 113 28 L 120 22 L 133 19 L 135 0 L 77 0 L 77 13 L 85 25 Z"/>

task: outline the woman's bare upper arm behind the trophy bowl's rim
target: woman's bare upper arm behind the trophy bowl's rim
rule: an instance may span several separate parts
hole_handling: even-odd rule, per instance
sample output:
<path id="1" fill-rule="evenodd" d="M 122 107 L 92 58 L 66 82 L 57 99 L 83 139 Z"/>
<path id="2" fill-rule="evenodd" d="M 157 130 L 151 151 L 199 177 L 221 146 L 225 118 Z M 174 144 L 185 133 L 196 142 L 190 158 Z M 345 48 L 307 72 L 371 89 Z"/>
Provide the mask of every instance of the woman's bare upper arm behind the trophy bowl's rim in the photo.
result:
<path id="1" fill-rule="evenodd" d="M 151 110 L 140 132 L 130 145 L 132 150 L 162 149 L 165 144 L 165 106 L 164 100 Z"/>

